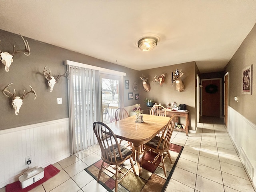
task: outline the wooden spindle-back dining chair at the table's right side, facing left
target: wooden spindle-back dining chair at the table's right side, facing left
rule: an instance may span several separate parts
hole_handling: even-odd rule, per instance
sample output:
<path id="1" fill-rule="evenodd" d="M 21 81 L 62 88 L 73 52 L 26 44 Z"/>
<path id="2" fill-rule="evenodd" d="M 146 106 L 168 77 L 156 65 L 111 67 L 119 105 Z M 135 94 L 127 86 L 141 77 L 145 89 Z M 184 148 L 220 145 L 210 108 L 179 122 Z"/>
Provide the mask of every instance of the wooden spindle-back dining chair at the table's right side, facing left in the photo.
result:
<path id="1" fill-rule="evenodd" d="M 166 159 L 166 157 L 168 156 L 170 159 L 170 162 L 172 163 L 172 159 L 171 159 L 171 154 L 169 152 L 169 147 L 170 147 L 170 139 L 172 136 L 172 132 L 174 129 L 174 124 L 175 124 L 175 119 L 176 119 L 176 115 L 174 114 L 170 120 L 168 121 L 168 123 L 166 124 L 164 130 L 163 130 L 163 134 L 161 137 L 159 136 L 154 136 L 154 138 L 152 138 L 149 142 L 147 142 L 144 146 L 145 146 L 145 151 L 144 154 L 142 156 L 142 160 L 141 160 L 141 166 L 143 165 L 143 162 L 145 160 L 145 155 L 146 152 L 148 150 L 156 152 L 157 155 L 154 158 L 153 161 L 148 161 L 150 164 L 154 164 L 157 166 L 160 166 L 163 168 L 164 170 L 164 175 L 167 177 L 166 174 L 166 166 L 164 163 L 164 160 Z M 161 162 L 162 165 L 160 163 L 156 163 L 156 160 L 158 158 L 161 158 Z"/>

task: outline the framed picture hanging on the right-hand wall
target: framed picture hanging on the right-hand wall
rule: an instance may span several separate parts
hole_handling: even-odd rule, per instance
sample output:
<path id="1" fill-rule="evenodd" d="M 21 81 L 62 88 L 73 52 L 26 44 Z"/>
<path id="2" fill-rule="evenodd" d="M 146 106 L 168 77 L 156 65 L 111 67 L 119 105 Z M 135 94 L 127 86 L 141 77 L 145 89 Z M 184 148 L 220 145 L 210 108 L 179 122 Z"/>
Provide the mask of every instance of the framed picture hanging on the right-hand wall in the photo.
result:
<path id="1" fill-rule="evenodd" d="M 242 70 L 242 94 L 252 94 L 252 66 Z"/>

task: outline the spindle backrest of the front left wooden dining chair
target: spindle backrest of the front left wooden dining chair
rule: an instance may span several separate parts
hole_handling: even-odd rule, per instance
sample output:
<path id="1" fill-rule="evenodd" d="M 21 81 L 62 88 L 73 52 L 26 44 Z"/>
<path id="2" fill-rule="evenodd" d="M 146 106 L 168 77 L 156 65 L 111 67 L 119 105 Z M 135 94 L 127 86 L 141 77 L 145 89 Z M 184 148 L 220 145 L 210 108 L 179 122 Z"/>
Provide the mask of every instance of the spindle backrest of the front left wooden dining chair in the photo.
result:
<path id="1" fill-rule="evenodd" d="M 100 145 L 102 160 L 112 164 L 117 160 L 123 160 L 118 140 L 112 130 L 99 121 L 94 122 L 92 126 Z"/>

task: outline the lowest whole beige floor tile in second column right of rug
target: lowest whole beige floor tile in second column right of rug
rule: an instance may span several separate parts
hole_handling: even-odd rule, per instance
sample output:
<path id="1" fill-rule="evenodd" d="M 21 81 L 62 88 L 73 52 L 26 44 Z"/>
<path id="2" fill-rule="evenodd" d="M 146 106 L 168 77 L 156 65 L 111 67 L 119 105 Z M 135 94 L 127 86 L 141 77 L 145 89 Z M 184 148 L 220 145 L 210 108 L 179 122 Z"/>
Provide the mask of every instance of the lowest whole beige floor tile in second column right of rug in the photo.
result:
<path id="1" fill-rule="evenodd" d="M 197 175 L 217 182 L 219 184 L 223 184 L 221 171 L 216 170 L 214 168 L 210 168 L 201 164 L 198 164 Z"/>

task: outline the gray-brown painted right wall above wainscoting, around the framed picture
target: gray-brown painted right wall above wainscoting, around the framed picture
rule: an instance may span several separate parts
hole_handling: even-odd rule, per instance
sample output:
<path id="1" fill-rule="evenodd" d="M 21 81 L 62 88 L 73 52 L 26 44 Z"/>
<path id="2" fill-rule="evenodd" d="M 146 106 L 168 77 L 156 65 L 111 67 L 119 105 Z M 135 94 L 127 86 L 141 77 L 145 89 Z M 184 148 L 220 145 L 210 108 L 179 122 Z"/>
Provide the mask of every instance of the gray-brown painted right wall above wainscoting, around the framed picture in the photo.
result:
<path id="1" fill-rule="evenodd" d="M 256 25 L 225 68 L 229 73 L 229 106 L 256 124 Z M 242 94 L 242 70 L 252 65 L 252 95 Z M 238 97 L 238 102 L 234 97 Z"/>

